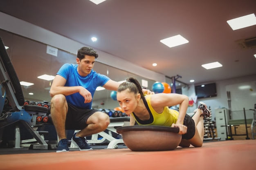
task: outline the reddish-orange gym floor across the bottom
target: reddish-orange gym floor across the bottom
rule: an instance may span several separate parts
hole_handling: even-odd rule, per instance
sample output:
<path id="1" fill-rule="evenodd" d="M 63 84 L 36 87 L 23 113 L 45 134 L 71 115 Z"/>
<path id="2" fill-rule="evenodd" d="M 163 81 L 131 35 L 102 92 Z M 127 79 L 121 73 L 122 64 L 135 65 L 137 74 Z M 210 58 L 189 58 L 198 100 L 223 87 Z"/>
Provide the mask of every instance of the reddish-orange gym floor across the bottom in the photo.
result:
<path id="1" fill-rule="evenodd" d="M 119 144 L 120 145 L 120 144 Z M 201 148 L 134 152 L 92 146 L 93 150 L 56 153 L 55 150 L 0 148 L 0 170 L 255 170 L 256 140 L 205 142 Z M 84 168 L 83 168 L 84 167 Z"/>

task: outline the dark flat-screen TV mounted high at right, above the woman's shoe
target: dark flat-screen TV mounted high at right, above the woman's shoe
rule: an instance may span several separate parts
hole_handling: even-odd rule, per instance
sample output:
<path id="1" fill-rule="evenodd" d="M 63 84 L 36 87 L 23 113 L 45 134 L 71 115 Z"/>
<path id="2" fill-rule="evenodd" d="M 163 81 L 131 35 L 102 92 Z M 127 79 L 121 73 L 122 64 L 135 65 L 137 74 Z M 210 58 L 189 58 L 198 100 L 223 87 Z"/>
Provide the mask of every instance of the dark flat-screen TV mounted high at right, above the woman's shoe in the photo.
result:
<path id="1" fill-rule="evenodd" d="M 195 95 L 198 99 L 217 96 L 216 83 L 195 86 Z"/>

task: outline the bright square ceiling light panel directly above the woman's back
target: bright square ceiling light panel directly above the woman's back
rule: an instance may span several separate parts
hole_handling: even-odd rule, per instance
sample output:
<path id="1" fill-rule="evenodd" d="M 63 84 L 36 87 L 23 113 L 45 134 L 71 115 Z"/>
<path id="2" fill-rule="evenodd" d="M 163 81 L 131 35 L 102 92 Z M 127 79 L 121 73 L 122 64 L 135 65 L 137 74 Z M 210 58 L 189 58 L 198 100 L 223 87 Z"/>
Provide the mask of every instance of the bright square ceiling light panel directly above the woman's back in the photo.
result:
<path id="1" fill-rule="evenodd" d="M 168 47 L 174 47 L 174 46 L 179 46 L 182 44 L 186 44 L 189 41 L 186 40 L 186 38 L 182 37 L 181 35 L 175 35 L 173 37 L 165 38 L 163 40 L 160 40 L 163 44 L 165 44 Z"/>

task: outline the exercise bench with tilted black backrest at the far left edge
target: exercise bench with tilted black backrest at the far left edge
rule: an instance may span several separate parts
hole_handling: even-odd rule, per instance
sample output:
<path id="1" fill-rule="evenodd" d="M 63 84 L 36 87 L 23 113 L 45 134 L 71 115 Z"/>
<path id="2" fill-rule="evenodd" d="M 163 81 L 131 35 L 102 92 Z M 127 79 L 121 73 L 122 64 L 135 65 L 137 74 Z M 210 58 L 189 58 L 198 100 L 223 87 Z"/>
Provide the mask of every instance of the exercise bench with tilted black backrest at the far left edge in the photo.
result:
<path id="1" fill-rule="evenodd" d="M 44 116 L 48 113 L 48 108 L 35 105 L 35 102 L 25 104 L 25 99 L 20 86 L 20 81 L 16 75 L 15 69 L 4 47 L 2 38 L 0 38 L 0 128 L 8 128 L 8 125 L 20 121 L 39 144 L 33 145 L 33 149 L 48 149 L 48 145 L 35 129 L 40 126 L 37 124 L 37 116 Z M 4 102 L 8 97 L 9 105 Z M 16 144 L 15 148 L 20 148 L 18 138 L 19 126 L 17 123 L 15 130 Z"/>

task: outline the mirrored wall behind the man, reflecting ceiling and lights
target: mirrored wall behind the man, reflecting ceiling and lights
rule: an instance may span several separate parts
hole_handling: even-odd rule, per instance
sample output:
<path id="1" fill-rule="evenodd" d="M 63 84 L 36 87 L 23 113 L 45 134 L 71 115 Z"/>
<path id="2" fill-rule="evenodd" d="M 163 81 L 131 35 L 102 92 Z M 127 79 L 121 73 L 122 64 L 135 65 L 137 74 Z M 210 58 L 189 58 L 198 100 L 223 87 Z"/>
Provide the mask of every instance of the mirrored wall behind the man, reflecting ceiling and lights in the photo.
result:
<path id="1" fill-rule="evenodd" d="M 0 30 L 0 36 L 8 47 L 7 53 L 16 70 L 18 78 L 24 82 L 34 83 L 32 86 L 22 86 L 22 92 L 25 100 L 34 102 L 50 102 L 49 89 L 52 80 L 47 81 L 37 78 L 40 75 L 55 76 L 58 69 L 65 63 L 76 64 L 76 54 L 69 53 L 58 49 L 57 57 L 46 53 L 47 44 L 31 40 L 4 30 Z M 99 56 L 104 57 L 104 56 Z M 155 80 L 146 79 L 127 71 L 108 66 L 97 62 L 94 65 L 97 73 L 107 75 L 111 79 L 120 82 L 127 77 L 135 77 L 139 82 L 142 79 L 148 82 L 148 89 L 151 89 Z M 92 106 L 95 108 L 117 107 L 118 102 L 110 98 L 109 90 L 96 91 L 93 98 Z M 33 94 L 31 94 L 33 93 Z"/>

